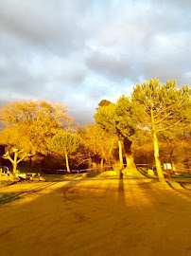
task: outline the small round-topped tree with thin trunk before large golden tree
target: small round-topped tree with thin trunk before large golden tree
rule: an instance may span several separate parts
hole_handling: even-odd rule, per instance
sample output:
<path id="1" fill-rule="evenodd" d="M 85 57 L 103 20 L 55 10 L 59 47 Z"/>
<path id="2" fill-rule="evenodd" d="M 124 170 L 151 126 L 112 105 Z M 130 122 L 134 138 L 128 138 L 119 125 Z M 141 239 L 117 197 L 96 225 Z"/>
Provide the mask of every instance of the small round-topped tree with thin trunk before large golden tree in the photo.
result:
<path id="1" fill-rule="evenodd" d="M 70 173 L 68 155 L 77 152 L 80 144 L 81 140 L 77 135 L 64 132 L 52 137 L 49 141 L 48 148 L 52 152 L 65 155 L 67 172 Z"/>

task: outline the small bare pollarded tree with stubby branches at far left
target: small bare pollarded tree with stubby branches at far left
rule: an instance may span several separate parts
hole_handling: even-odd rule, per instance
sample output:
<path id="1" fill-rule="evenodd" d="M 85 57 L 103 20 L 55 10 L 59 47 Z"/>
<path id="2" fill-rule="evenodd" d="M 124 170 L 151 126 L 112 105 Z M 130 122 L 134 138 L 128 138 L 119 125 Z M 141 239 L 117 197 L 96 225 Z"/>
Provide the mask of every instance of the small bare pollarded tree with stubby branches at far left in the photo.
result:
<path id="1" fill-rule="evenodd" d="M 3 155 L 3 157 L 5 159 L 9 159 L 9 161 L 12 163 L 12 174 L 15 176 L 16 175 L 16 171 L 17 171 L 17 165 L 18 163 L 20 163 L 21 161 L 24 160 L 24 158 L 26 158 L 26 156 L 31 156 L 30 154 L 24 154 L 22 155 L 19 159 L 18 159 L 18 155 L 21 155 L 22 153 L 24 153 L 24 150 L 18 150 L 18 149 L 13 149 L 12 150 L 14 153 L 14 157 L 13 159 L 11 158 L 11 156 L 9 155 L 9 151 Z"/>

